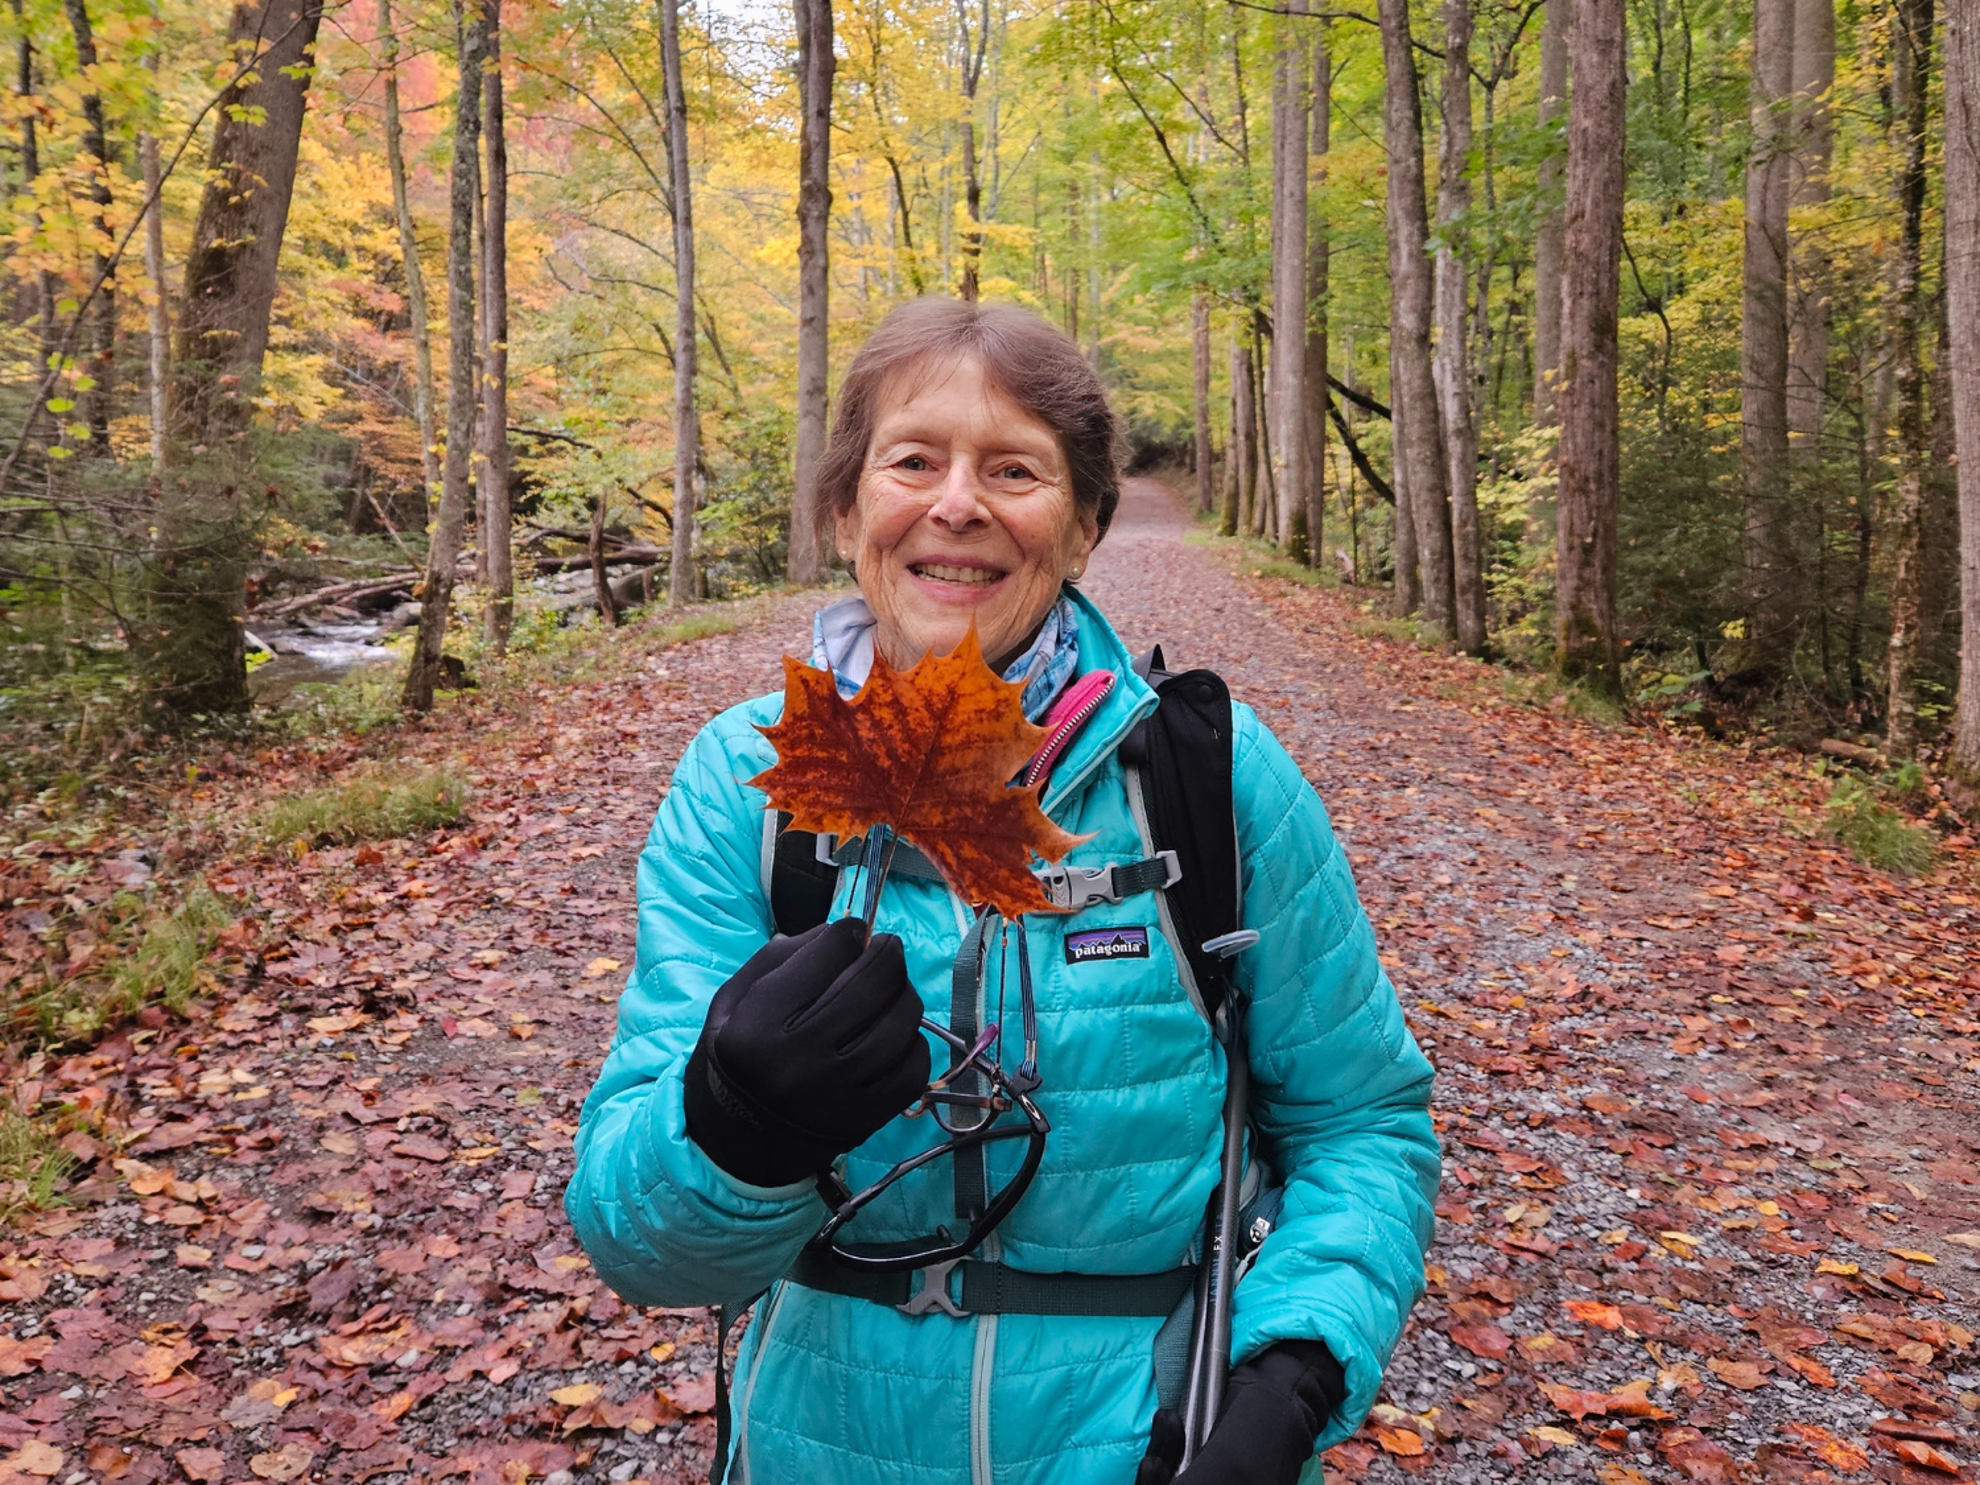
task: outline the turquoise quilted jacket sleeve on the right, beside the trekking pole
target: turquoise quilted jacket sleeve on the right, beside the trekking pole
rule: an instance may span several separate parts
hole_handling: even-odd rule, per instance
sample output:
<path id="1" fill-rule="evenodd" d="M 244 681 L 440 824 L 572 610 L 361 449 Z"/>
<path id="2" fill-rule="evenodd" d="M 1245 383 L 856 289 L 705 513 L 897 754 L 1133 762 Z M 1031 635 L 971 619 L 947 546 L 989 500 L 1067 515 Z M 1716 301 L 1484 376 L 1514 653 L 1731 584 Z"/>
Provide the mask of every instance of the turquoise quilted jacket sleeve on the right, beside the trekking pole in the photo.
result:
<path id="1" fill-rule="evenodd" d="M 1376 960 L 1374 931 L 1319 796 L 1238 707 L 1253 1121 L 1285 1208 L 1236 1295 L 1232 1354 L 1325 1340 L 1348 1400 L 1321 1447 L 1360 1424 L 1424 1293 L 1439 1154 L 1432 1067 Z"/>

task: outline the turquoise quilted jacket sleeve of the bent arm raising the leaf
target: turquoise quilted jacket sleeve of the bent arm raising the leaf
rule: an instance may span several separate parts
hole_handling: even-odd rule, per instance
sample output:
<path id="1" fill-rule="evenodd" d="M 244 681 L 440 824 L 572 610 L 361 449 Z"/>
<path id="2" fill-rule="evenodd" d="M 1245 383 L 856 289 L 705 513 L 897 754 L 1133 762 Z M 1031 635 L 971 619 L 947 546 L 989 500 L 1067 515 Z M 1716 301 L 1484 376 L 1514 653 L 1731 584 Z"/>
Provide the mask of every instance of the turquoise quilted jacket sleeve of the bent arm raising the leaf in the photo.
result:
<path id="1" fill-rule="evenodd" d="M 578 1121 L 564 1212 L 598 1275 L 638 1305 L 748 1299 L 824 1222 L 810 1182 L 744 1186 L 687 1138 L 681 1071 L 715 990 L 772 933 L 762 893 L 768 758 L 739 709 L 687 748 L 640 855 L 640 942 L 618 1034 Z"/>

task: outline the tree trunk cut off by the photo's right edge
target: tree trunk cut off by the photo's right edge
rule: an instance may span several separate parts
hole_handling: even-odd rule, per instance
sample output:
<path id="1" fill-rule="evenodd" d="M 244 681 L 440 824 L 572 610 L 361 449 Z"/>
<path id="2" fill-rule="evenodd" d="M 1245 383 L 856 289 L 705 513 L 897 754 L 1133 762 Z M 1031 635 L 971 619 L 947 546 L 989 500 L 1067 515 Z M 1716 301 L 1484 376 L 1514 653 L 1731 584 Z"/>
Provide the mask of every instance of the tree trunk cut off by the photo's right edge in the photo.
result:
<path id="1" fill-rule="evenodd" d="M 1946 331 L 1960 493 L 1960 695 L 1952 774 L 1980 804 L 1980 12 L 1946 12 Z"/>

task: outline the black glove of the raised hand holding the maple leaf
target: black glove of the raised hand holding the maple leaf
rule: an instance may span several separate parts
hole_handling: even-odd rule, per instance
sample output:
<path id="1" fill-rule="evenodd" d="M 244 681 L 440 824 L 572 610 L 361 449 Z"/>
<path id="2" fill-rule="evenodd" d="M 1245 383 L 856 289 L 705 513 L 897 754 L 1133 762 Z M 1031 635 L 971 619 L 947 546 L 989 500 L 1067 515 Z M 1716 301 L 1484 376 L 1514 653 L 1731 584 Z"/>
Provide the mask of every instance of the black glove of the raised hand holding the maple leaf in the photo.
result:
<path id="1" fill-rule="evenodd" d="M 737 1180 L 786 1186 L 929 1087 L 901 940 L 859 919 L 772 939 L 715 992 L 687 1059 L 687 1135 Z"/>

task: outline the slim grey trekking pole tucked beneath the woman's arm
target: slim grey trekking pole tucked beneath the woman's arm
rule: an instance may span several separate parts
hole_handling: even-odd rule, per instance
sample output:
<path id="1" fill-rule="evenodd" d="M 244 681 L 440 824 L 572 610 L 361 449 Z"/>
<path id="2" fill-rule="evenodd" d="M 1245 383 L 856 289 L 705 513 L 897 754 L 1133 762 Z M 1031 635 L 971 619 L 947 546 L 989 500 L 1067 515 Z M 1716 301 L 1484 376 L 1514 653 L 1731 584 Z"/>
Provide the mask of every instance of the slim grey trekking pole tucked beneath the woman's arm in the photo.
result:
<path id="1" fill-rule="evenodd" d="M 1204 950 L 1230 958 L 1257 942 L 1249 929 L 1228 933 Z M 1218 1192 L 1204 1220 L 1204 1267 L 1196 1283 L 1190 1323 L 1190 1370 L 1182 1400 L 1182 1467 L 1204 1447 L 1224 1404 L 1232 1368 L 1232 1289 L 1238 1279 L 1238 1196 L 1243 1186 L 1243 1131 L 1251 1105 L 1251 1059 L 1243 1040 L 1243 996 L 1226 982 L 1218 1006 L 1218 1040 L 1224 1043 L 1224 1160 Z"/>

